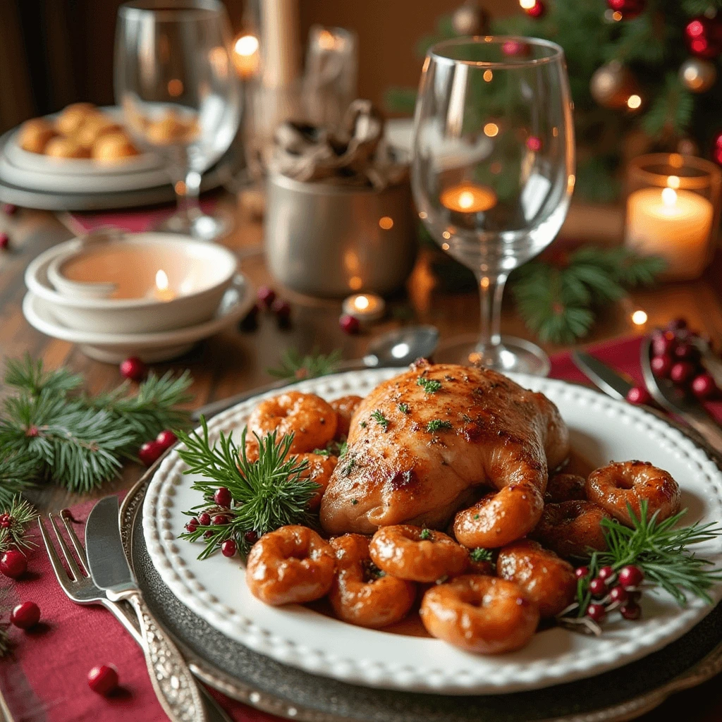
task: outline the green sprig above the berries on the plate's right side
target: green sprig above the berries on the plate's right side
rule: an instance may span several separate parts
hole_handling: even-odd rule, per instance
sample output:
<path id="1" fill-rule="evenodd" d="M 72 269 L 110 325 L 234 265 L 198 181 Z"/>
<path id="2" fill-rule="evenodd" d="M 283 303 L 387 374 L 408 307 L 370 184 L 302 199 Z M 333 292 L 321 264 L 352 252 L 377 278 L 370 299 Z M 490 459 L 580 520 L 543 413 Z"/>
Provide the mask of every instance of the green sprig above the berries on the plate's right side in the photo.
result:
<path id="1" fill-rule="evenodd" d="M 722 526 L 696 522 L 675 529 L 687 509 L 658 521 L 658 512 L 648 519 L 648 506 L 644 500 L 640 503 L 639 517 L 629 505 L 627 508 L 631 528 L 611 519 L 601 521 L 609 550 L 591 555 L 589 573 L 577 585 L 576 616 L 583 617 L 586 613 L 591 602 L 589 581 L 604 566 L 612 567 L 615 572 L 627 565 L 638 566 L 645 580 L 669 592 L 679 606 L 687 604 L 688 593 L 712 604 L 708 590 L 722 581 L 722 569 L 707 568 L 713 566 L 713 562 L 695 556 L 689 547 L 716 539 L 722 534 Z"/>

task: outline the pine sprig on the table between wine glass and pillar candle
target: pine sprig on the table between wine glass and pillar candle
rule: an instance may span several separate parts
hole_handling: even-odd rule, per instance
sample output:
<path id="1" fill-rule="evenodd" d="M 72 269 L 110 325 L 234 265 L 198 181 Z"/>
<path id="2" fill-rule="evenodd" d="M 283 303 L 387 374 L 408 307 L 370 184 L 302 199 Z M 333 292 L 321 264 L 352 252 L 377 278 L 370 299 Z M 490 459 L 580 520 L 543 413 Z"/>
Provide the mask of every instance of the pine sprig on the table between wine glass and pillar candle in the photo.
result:
<path id="1" fill-rule="evenodd" d="M 600 308 L 652 284 L 664 267 L 657 256 L 587 246 L 524 264 L 513 275 L 513 292 L 530 331 L 543 342 L 570 344 L 589 333 Z"/>

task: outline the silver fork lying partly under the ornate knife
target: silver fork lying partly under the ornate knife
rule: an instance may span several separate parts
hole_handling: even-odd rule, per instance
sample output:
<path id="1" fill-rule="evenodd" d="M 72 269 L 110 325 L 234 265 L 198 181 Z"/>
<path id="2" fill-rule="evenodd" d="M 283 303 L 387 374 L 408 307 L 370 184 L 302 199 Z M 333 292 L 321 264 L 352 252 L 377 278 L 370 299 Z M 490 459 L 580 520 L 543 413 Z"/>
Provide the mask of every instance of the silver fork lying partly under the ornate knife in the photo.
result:
<path id="1" fill-rule="evenodd" d="M 63 509 L 58 516 L 60 516 L 61 521 L 63 522 L 65 531 L 68 534 L 70 542 L 73 545 L 73 549 L 75 549 L 75 553 L 77 554 L 80 562 L 79 565 L 75 560 L 75 557 L 70 551 L 70 547 L 65 541 L 64 536 L 60 533 L 60 529 L 58 529 L 55 517 L 52 514 L 48 514 L 48 521 L 53 527 L 53 531 L 55 531 L 55 535 L 58 538 L 58 546 L 65 558 L 70 574 L 68 574 L 63 566 L 60 554 L 58 554 L 58 550 L 53 544 L 51 535 L 48 533 L 48 530 L 45 529 L 45 524 L 43 524 L 43 520 L 40 516 L 38 516 L 38 526 L 40 527 L 40 535 L 43 536 L 45 549 L 48 550 L 48 557 L 50 557 L 51 566 L 53 567 L 53 571 L 55 572 L 61 589 L 66 593 L 66 596 L 68 596 L 68 598 L 76 604 L 102 604 L 105 606 L 105 609 L 108 609 L 110 614 L 113 614 L 113 617 L 116 617 L 118 622 L 125 627 L 126 631 L 131 634 L 134 640 L 142 646 L 143 638 L 140 633 L 140 629 L 137 626 L 138 622 L 136 614 L 132 611 L 132 609 L 127 607 L 124 602 L 110 601 L 110 599 L 105 596 L 105 591 L 96 586 L 95 582 L 90 577 L 90 574 L 88 573 L 88 562 L 87 555 L 85 554 L 85 547 L 81 544 L 80 539 L 78 539 L 77 534 L 75 534 L 74 529 L 68 521 L 70 511 L 68 509 Z M 204 700 L 206 700 L 206 708 L 209 708 L 206 709 L 206 712 L 211 712 L 211 714 L 208 715 L 209 720 L 216 719 L 221 722 L 233 722 L 226 714 L 225 710 L 217 703 L 208 690 L 206 690 L 204 685 L 199 684 L 199 687 L 201 695 L 203 695 Z"/>

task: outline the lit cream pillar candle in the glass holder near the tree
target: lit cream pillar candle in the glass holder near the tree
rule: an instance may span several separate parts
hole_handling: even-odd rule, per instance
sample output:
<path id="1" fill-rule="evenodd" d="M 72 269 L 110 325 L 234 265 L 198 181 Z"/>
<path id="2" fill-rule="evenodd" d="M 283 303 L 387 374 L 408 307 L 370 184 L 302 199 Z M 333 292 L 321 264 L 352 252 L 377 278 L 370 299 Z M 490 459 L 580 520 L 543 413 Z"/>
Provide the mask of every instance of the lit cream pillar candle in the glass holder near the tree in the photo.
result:
<path id="1" fill-rule="evenodd" d="M 664 258 L 668 277 L 697 278 L 707 264 L 713 216 L 713 205 L 698 193 L 642 188 L 627 199 L 627 245 Z"/>

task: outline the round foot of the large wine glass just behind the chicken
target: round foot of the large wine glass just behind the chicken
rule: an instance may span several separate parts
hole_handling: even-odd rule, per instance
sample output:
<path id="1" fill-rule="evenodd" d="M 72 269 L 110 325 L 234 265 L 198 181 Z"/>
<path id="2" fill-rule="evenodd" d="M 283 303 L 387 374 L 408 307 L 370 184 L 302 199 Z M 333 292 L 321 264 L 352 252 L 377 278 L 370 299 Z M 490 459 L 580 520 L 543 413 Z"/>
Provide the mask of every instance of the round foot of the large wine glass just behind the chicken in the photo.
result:
<path id="1" fill-rule="evenodd" d="M 434 352 L 437 363 L 458 363 L 465 366 L 482 366 L 502 373 L 529 373 L 547 376 L 552 368 L 549 357 L 531 341 L 514 336 L 502 336 L 501 346 L 492 353 L 479 349 L 479 336 L 457 336 L 439 345 Z"/>

